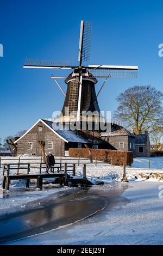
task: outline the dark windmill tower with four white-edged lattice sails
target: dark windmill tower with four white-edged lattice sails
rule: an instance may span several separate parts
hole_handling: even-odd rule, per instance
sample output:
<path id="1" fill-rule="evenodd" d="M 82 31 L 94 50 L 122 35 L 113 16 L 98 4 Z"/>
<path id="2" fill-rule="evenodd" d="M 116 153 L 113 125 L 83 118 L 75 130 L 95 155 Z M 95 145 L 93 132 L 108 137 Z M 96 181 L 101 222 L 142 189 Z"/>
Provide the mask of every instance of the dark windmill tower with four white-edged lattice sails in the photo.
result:
<path id="1" fill-rule="evenodd" d="M 62 107 L 62 120 L 82 120 L 83 112 L 96 112 L 96 118 L 101 118 L 97 97 L 101 93 L 108 78 L 136 78 L 137 66 L 118 65 L 83 65 L 83 62 L 90 60 L 92 22 L 81 21 L 79 39 L 79 65 L 72 65 L 71 62 L 53 62 L 48 60 L 26 59 L 24 68 L 39 69 L 71 69 L 68 77 L 52 76 L 65 95 L 64 106 Z M 61 88 L 57 79 L 64 78 L 67 84 L 67 92 Z M 104 82 L 96 94 L 96 78 L 104 78 Z"/>

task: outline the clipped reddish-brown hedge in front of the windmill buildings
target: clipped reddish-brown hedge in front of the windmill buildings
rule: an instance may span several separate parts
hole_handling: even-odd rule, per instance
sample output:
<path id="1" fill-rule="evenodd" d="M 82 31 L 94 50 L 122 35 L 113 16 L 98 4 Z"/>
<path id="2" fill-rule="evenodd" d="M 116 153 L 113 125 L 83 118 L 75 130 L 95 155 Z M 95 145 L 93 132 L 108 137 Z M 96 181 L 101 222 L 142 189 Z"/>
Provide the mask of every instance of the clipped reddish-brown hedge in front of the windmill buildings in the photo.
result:
<path id="1" fill-rule="evenodd" d="M 89 149 L 70 148 L 68 150 L 71 157 L 89 158 Z M 109 150 L 109 149 L 91 149 L 92 159 L 112 163 L 115 166 L 130 165 L 133 163 L 133 152 Z"/>

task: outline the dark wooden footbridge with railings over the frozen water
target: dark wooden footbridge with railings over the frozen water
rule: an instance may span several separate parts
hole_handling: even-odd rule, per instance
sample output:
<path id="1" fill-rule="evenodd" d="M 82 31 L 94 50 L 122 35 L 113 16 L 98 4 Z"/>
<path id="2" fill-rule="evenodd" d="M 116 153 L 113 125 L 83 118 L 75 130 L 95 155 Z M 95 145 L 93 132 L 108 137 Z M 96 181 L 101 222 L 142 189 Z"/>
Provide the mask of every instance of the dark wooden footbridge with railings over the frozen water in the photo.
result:
<path id="1" fill-rule="evenodd" d="M 76 163 L 72 165 L 68 165 L 64 163 L 58 166 L 54 166 L 54 169 L 57 169 L 57 173 L 45 174 L 42 173 L 42 169 L 46 169 L 45 163 L 39 163 L 39 167 L 35 167 L 37 163 L 9 163 L 3 164 L 3 190 L 9 190 L 10 188 L 10 181 L 11 180 L 26 180 L 26 187 L 29 187 L 30 179 L 36 179 L 36 187 L 42 188 L 43 179 L 47 178 L 55 178 L 55 182 L 60 185 L 68 185 L 68 182 L 71 181 L 72 184 L 90 184 L 90 182 L 86 179 L 86 164 L 83 164 L 83 177 L 82 178 L 75 178 L 76 176 Z M 56 163 L 58 164 L 58 163 Z M 32 168 L 39 169 L 39 173 L 30 173 Z M 71 169 L 70 169 L 71 168 Z M 17 170 L 17 173 L 11 174 L 10 170 Z M 20 173 L 20 170 L 27 170 L 27 173 Z M 68 174 L 72 172 L 72 175 Z"/>

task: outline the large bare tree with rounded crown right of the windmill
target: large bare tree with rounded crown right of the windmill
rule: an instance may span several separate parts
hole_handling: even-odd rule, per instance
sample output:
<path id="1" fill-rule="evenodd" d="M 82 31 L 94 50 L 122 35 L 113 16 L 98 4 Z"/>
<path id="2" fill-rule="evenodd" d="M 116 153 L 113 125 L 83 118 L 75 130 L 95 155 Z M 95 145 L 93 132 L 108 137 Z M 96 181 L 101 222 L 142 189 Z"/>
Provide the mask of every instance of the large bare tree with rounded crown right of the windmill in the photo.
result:
<path id="1" fill-rule="evenodd" d="M 137 135 L 163 129 L 163 94 L 151 86 L 135 86 L 118 95 L 115 118 Z"/>

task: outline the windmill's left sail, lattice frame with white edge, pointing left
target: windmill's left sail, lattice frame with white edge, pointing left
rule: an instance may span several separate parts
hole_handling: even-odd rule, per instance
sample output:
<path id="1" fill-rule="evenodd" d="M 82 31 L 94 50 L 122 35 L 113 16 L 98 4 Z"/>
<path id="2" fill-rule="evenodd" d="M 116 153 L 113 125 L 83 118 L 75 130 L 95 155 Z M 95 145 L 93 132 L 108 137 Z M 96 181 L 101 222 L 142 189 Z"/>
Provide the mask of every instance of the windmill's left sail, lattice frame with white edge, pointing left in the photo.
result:
<path id="1" fill-rule="evenodd" d="M 30 59 L 27 58 L 24 68 L 37 69 L 73 69 L 71 62 L 54 62 L 51 60 Z"/>

